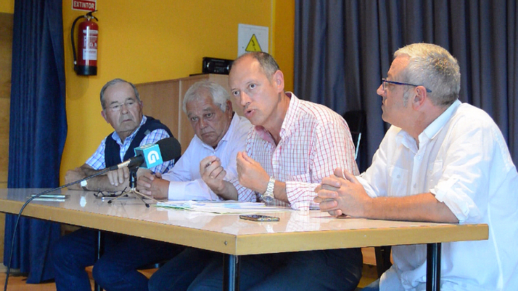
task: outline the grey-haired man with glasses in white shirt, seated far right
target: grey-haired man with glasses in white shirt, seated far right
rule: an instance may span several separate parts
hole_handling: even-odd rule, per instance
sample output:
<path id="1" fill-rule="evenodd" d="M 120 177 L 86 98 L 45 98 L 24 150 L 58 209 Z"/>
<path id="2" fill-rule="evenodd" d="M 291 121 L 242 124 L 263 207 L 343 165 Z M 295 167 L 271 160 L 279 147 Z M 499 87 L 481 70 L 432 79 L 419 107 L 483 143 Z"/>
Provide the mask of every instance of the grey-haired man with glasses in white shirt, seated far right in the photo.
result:
<path id="1" fill-rule="evenodd" d="M 489 225 L 487 241 L 442 243 L 440 290 L 516 290 L 518 173 L 497 125 L 458 101 L 456 59 L 437 45 L 401 48 L 377 93 L 391 123 L 358 177 L 317 187 L 332 215 Z M 394 246 L 393 266 L 364 290 L 425 290 L 426 246 Z"/>

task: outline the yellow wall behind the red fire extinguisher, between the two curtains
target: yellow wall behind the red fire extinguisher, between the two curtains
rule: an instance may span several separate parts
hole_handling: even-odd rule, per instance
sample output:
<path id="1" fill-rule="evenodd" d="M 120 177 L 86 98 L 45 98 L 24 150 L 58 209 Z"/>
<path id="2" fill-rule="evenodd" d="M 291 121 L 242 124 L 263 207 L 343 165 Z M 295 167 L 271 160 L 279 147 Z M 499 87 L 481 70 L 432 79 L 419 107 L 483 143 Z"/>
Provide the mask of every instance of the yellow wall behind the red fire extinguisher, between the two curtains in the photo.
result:
<path id="1" fill-rule="evenodd" d="M 71 10 L 71 0 L 63 1 L 69 131 L 62 177 L 67 169 L 83 164 L 113 130 L 100 115 L 99 90 L 106 81 L 183 78 L 201 73 L 202 57 L 234 59 L 239 23 L 269 27 L 269 52 L 285 73 L 286 90 L 293 90 L 294 0 L 98 0 L 97 5 L 98 73 L 76 76 L 70 29 L 85 13 Z"/>

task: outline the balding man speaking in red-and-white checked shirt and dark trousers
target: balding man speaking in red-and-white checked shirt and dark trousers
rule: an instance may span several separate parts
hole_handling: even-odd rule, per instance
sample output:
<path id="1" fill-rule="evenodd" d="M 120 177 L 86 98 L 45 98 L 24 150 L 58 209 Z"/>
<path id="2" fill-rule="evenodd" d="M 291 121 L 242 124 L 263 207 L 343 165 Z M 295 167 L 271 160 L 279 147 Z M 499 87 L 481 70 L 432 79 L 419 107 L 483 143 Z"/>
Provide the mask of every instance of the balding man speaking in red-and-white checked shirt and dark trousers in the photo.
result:
<path id="1" fill-rule="evenodd" d="M 316 186 L 339 166 L 358 173 L 346 122 L 325 106 L 284 92 L 283 73 L 265 52 L 241 55 L 230 71 L 231 95 L 254 126 L 237 155 L 237 196 L 308 211 Z M 244 256 L 241 290 L 354 290 L 360 249 Z M 197 276 L 189 290 L 221 290 L 221 261 Z"/>

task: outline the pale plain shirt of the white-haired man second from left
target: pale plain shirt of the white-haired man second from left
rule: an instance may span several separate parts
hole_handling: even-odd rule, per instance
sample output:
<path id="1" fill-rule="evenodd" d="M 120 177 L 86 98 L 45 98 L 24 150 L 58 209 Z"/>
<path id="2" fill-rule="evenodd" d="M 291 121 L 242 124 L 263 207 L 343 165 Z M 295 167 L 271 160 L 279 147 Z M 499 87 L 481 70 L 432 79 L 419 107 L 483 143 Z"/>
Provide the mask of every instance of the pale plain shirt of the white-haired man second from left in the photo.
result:
<path id="1" fill-rule="evenodd" d="M 194 136 L 173 169 L 162 174 L 162 178 L 170 181 L 169 200 L 222 200 L 202 180 L 200 162 L 209 155 L 219 157 L 221 166 L 227 172 L 225 180 L 236 182 L 237 152 L 245 149 L 246 135 L 251 126 L 246 118 L 234 113 L 228 131 L 216 148 L 208 146 L 198 136 Z"/>

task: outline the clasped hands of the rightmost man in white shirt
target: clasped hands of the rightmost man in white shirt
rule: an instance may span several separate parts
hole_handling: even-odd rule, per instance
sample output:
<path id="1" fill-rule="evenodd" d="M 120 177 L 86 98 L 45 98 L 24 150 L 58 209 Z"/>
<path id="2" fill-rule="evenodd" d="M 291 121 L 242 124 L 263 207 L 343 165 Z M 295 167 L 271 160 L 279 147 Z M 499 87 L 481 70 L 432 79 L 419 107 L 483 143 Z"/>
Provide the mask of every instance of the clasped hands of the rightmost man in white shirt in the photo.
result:
<path id="1" fill-rule="evenodd" d="M 365 206 L 371 200 L 356 177 L 339 168 L 335 169 L 334 175 L 323 178 L 315 192 L 315 203 L 330 215 L 365 217 Z"/>

